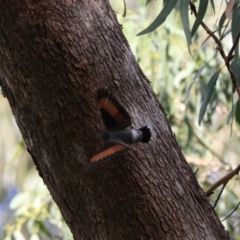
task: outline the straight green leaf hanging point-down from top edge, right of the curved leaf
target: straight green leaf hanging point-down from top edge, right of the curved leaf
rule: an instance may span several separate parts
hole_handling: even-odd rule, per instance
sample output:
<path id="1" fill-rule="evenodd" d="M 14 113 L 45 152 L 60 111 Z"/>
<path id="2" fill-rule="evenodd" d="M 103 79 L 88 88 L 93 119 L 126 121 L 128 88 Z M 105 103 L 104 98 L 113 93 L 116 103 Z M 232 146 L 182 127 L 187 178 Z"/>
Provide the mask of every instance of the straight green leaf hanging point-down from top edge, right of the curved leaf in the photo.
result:
<path id="1" fill-rule="evenodd" d="M 189 0 L 180 0 L 179 11 L 182 20 L 183 30 L 186 36 L 188 50 L 190 52 L 190 45 L 192 44 L 192 37 L 190 33 L 189 18 L 188 18 L 188 5 Z"/>

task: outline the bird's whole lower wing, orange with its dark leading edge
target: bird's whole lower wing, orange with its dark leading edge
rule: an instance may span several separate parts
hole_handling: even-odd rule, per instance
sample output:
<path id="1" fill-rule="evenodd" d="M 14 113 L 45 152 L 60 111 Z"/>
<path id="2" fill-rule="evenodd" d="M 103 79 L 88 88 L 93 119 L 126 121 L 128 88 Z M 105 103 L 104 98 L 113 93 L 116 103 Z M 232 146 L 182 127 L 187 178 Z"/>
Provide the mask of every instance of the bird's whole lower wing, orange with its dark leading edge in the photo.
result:
<path id="1" fill-rule="evenodd" d="M 115 156 L 127 151 L 130 147 L 127 144 L 118 141 L 109 141 L 91 158 L 91 162 L 98 162 L 105 158 Z"/>

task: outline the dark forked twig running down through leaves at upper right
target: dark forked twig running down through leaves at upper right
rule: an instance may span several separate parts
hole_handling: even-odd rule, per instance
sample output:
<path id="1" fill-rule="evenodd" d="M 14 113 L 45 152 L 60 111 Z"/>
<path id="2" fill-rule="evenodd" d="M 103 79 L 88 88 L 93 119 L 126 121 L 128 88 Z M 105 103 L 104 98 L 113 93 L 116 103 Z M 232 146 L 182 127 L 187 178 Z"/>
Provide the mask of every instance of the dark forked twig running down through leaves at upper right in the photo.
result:
<path id="1" fill-rule="evenodd" d="M 194 13 L 195 17 L 197 17 L 197 10 L 196 10 L 196 6 L 193 2 L 190 2 L 190 8 L 191 8 L 191 11 Z M 211 36 L 214 41 L 216 42 L 217 44 L 217 49 L 219 51 L 219 53 L 221 54 L 224 62 L 225 62 L 225 65 L 230 73 L 230 76 L 231 76 L 231 79 L 232 79 L 232 83 L 233 83 L 233 86 L 234 88 L 236 89 L 237 93 L 238 93 L 238 98 L 240 99 L 240 88 L 238 86 L 238 83 L 237 83 L 237 77 L 235 75 L 235 73 L 233 72 L 231 66 L 230 66 L 230 61 L 233 59 L 233 51 L 234 49 L 236 48 L 237 46 L 237 43 L 238 43 L 238 40 L 239 40 L 239 37 L 240 37 L 240 32 L 238 33 L 236 39 L 235 39 L 235 42 L 228 54 L 228 56 L 226 56 L 225 52 L 223 51 L 223 46 L 222 46 L 222 43 L 221 41 L 217 38 L 217 36 L 207 27 L 207 25 L 202 21 L 201 22 L 201 26 L 205 29 L 205 31 L 209 34 L 209 36 Z"/>

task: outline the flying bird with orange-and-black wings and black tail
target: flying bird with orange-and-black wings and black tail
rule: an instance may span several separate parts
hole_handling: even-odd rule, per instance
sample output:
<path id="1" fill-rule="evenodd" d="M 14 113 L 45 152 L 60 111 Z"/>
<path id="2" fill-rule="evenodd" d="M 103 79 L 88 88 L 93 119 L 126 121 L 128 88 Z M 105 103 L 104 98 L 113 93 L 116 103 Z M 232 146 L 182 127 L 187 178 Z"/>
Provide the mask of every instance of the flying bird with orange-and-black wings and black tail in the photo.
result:
<path id="1" fill-rule="evenodd" d="M 105 144 L 92 156 L 90 162 L 99 162 L 122 154 L 131 149 L 130 145 L 133 143 L 150 141 L 149 127 L 139 129 L 131 127 L 132 120 L 129 113 L 108 88 L 97 90 L 97 102 L 107 132 L 102 134 Z"/>

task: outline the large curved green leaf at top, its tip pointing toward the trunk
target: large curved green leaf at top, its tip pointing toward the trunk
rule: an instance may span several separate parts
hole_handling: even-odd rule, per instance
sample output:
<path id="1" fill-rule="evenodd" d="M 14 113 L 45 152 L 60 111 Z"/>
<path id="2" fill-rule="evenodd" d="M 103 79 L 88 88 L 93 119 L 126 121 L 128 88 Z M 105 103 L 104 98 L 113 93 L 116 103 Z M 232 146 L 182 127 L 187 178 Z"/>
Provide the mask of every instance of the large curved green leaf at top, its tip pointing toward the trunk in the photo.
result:
<path id="1" fill-rule="evenodd" d="M 176 6 L 177 2 L 178 2 L 177 0 L 166 1 L 163 6 L 162 11 L 159 13 L 157 18 L 146 29 L 144 29 L 142 32 L 138 33 L 137 36 L 140 36 L 140 35 L 143 35 L 146 33 L 150 33 L 152 31 L 154 31 L 156 28 L 158 28 L 162 23 L 164 23 L 164 21 L 166 20 L 168 15 L 171 13 L 173 8 Z"/>

